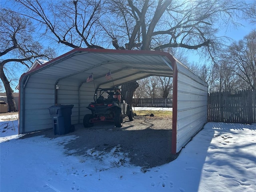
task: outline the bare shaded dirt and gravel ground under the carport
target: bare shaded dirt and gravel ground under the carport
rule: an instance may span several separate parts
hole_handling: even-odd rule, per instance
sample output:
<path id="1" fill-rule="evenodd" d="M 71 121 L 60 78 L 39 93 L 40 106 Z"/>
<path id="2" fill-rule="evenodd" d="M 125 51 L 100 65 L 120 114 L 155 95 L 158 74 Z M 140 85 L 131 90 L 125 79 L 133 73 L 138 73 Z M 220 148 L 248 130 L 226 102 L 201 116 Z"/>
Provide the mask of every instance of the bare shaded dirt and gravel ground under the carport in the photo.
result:
<path id="1" fill-rule="evenodd" d="M 54 138 L 53 130 L 27 134 L 23 138 L 42 135 Z M 90 156 L 88 151 L 110 152 L 118 146 L 126 160 L 135 166 L 151 168 L 171 162 L 177 154 L 171 154 L 172 118 L 135 116 L 133 121 L 124 118 L 121 128 L 113 122 L 94 123 L 91 128 L 82 124 L 75 125 L 75 131 L 67 135 L 76 135 L 76 139 L 64 144 L 65 154 Z M 124 160 L 122 160 L 124 161 Z"/>

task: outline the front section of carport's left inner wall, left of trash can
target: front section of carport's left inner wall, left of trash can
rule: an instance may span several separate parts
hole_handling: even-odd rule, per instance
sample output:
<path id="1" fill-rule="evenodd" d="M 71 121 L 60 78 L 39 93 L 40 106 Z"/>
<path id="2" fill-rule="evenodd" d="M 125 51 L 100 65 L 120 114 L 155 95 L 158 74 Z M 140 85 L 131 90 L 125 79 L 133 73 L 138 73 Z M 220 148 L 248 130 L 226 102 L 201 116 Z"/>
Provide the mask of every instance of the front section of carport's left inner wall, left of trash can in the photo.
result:
<path id="1" fill-rule="evenodd" d="M 45 82 L 45 83 L 44 83 Z M 21 86 L 23 86 L 23 82 Z M 21 90 L 22 118 L 19 134 L 52 128 L 48 108 L 54 103 L 54 81 L 50 76 L 30 75 L 25 88 Z"/>

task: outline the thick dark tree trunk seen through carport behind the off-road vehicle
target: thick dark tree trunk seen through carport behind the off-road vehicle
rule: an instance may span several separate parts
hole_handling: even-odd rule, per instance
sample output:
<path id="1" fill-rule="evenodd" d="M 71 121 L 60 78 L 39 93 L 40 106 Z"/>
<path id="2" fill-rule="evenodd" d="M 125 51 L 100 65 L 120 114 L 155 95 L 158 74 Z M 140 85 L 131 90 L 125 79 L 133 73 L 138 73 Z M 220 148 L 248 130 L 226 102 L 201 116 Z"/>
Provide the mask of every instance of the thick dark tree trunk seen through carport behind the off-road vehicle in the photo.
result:
<path id="1" fill-rule="evenodd" d="M 132 106 L 132 96 L 138 87 L 139 84 L 136 81 L 122 85 L 122 95 L 130 106 Z"/>

